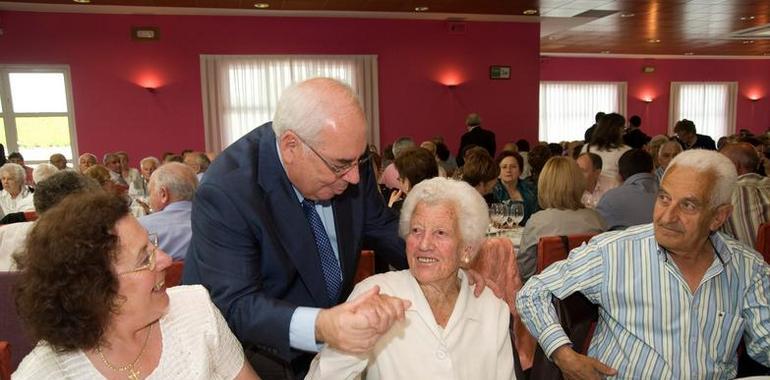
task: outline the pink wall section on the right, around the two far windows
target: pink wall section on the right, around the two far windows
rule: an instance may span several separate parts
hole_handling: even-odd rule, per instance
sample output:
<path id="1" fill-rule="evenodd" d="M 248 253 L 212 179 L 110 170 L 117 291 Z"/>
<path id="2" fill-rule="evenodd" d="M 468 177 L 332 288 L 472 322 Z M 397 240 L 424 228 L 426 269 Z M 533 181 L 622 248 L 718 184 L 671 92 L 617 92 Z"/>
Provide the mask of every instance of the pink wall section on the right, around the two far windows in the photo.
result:
<path id="1" fill-rule="evenodd" d="M 642 66 L 654 66 L 655 72 L 644 74 Z M 770 60 L 542 57 L 540 79 L 627 82 L 628 115 L 641 116 L 649 135 L 667 131 L 671 82 L 737 81 L 736 129 L 764 133 L 770 128 Z M 647 96 L 652 103 L 642 101 Z M 749 97 L 760 99 L 752 102 Z"/>

